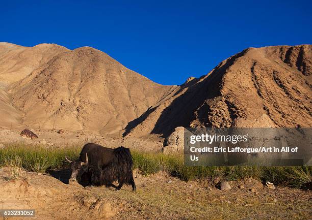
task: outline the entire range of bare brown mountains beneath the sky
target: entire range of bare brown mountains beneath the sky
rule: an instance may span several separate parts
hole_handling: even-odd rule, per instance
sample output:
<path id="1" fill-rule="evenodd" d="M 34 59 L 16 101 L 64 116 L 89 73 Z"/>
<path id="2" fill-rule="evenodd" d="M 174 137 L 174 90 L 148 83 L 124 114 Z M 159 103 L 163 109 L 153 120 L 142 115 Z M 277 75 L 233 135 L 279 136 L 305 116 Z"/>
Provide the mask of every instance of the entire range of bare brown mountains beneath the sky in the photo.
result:
<path id="1" fill-rule="evenodd" d="M 312 127 L 311 52 L 248 48 L 205 76 L 164 86 L 90 47 L 0 43 L 0 125 L 138 137 L 267 114 L 276 127 Z"/>

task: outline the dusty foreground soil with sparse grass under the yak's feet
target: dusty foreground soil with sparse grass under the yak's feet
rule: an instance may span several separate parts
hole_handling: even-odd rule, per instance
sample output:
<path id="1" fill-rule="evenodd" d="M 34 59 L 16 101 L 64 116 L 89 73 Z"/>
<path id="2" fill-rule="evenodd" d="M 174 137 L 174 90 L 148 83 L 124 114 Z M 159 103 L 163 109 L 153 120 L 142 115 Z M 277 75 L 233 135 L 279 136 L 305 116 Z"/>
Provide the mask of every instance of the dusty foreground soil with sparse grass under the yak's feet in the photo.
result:
<path id="1" fill-rule="evenodd" d="M 66 184 L 68 171 L 22 172 L 18 179 L 10 173 L 10 168 L 0 170 L 0 208 L 35 209 L 32 219 L 310 219 L 312 214 L 310 191 L 270 190 L 253 179 L 230 182 L 232 190 L 220 191 L 208 186 L 212 181 L 184 182 L 163 172 L 144 177 L 135 171 L 138 187 L 132 192 L 131 186 L 115 191 Z"/>

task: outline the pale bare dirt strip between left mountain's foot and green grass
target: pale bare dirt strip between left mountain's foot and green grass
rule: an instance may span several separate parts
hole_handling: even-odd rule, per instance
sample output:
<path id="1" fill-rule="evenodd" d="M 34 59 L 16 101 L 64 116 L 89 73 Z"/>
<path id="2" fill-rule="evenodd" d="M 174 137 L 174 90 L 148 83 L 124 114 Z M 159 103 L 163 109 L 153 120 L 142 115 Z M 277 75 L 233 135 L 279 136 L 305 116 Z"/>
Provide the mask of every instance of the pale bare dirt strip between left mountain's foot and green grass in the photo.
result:
<path id="1" fill-rule="evenodd" d="M 38 144 L 47 147 L 53 146 L 83 146 L 86 143 L 98 143 L 106 147 L 116 148 L 124 146 L 131 149 L 161 151 L 163 147 L 163 139 L 156 135 L 148 135 L 142 138 L 124 137 L 117 138 L 112 135 L 100 135 L 91 131 L 67 131 L 63 134 L 58 134 L 58 129 L 40 130 L 31 129 L 36 135 L 37 139 L 30 140 L 20 136 L 20 132 L 24 129 L 10 129 L 0 127 L 0 144 L 4 143 L 25 143 Z"/>

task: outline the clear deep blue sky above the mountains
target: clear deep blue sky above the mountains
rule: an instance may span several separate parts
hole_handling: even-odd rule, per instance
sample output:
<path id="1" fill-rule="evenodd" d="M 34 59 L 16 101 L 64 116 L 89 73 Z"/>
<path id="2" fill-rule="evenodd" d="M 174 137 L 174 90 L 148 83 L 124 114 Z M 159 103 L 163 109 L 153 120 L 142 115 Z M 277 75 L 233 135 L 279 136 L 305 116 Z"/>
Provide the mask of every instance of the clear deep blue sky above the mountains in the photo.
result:
<path id="1" fill-rule="evenodd" d="M 0 41 L 91 46 L 161 84 L 247 47 L 312 43 L 312 1 L 2 1 Z"/>

